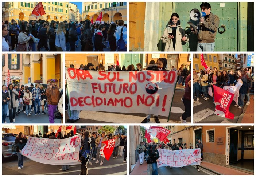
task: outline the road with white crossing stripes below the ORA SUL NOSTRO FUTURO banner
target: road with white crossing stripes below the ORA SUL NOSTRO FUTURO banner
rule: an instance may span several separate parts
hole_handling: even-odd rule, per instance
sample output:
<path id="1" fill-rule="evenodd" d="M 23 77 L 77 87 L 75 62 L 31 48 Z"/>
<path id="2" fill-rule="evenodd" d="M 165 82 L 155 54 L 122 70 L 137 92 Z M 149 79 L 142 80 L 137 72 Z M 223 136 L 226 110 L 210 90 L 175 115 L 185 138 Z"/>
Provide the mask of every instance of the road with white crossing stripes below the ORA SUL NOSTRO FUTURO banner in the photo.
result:
<path id="1" fill-rule="evenodd" d="M 172 103 L 172 110 L 170 121 L 167 122 L 168 117 L 158 116 L 160 123 L 180 123 L 180 117 L 185 111 L 185 107 L 181 98 L 183 97 L 185 91 L 184 86 L 177 85 L 175 89 L 174 99 Z M 65 122 L 67 122 L 68 111 L 65 112 Z M 81 111 L 79 115 L 80 119 L 75 123 L 141 123 L 146 117 L 145 114 L 141 113 L 110 113 L 110 112 L 100 112 L 100 111 Z M 155 123 L 153 115 L 151 115 L 151 121 L 148 123 Z M 191 117 L 186 119 L 187 122 L 191 122 Z"/>

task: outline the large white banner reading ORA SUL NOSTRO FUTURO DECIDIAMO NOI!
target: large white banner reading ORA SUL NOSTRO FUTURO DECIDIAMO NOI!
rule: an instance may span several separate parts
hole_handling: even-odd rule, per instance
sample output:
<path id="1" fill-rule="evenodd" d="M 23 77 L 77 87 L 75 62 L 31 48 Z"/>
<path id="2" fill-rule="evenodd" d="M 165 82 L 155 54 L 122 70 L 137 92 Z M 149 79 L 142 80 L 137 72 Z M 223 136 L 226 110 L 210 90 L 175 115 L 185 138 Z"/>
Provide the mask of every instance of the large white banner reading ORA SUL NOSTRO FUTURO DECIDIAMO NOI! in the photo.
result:
<path id="1" fill-rule="evenodd" d="M 178 72 L 65 71 L 70 110 L 163 116 L 169 115 Z"/>

